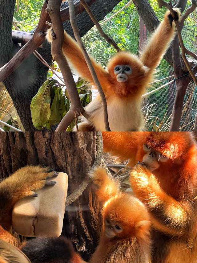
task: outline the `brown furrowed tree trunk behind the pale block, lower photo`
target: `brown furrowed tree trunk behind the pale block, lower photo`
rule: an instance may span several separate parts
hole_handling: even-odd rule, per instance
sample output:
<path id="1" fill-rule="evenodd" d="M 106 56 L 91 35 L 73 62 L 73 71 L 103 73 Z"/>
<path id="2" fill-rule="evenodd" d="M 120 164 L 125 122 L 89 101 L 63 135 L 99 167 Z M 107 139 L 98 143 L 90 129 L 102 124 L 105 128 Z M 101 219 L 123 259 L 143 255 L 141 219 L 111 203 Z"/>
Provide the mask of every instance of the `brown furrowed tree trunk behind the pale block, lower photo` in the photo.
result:
<path id="1" fill-rule="evenodd" d="M 68 174 L 68 195 L 84 179 L 96 156 L 95 132 L 0 133 L 0 175 L 6 178 L 28 164 L 54 167 Z M 100 234 L 99 203 L 88 186 L 66 207 L 62 235 L 67 236 L 85 261 L 90 259 Z"/>

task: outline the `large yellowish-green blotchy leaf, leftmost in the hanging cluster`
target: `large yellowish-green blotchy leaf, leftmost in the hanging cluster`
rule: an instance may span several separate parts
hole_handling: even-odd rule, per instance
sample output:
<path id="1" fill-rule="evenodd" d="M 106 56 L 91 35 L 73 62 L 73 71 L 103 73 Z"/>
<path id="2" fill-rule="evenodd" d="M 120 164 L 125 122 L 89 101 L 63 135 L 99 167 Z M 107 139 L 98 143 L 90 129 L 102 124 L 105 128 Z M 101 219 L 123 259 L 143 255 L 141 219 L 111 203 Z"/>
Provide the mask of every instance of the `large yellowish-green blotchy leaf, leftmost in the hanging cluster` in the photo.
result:
<path id="1" fill-rule="evenodd" d="M 38 93 L 32 98 L 30 110 L 34 127 L 41 130 L 48 121 L 50 110 L 50 88 L 56 83 L 55 80 L 46 80 L 39 88 Z"/>

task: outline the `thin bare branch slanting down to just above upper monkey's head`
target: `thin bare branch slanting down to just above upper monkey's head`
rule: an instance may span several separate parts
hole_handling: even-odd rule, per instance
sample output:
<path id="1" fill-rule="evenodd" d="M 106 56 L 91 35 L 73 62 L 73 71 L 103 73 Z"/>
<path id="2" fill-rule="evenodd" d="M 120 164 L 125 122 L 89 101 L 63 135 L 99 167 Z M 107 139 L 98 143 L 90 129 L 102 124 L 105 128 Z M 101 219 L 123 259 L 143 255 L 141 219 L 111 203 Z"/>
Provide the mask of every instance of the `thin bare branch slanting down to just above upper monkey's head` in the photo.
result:
<path id="1" fill-rule="evenodd" d="M 92 13 L 90 7 L 87 5 L 87 3 L 85 2 L 85 0 L 80 0 L 80 2 L 82 3 L 83 7 L 86 9 L 87 13 L 89 14 L 90 18 L 92 19 L 92 21 L 94 22 L 94 25 L 97 27 L 99 34 L 106 39 L 106 41 L 108 43 L 110 43 L 117 52 L 120 52 L 121 49 L 118 47 L 118 45 L 115 43 L 114 39 L 110 38 L 107 34 L 104 33 L 102 27 L 100 26 L 100 24 L 98 23 L 98 20 L 96 19 L 96 17 L 94 16 L 94 14 Z"/>

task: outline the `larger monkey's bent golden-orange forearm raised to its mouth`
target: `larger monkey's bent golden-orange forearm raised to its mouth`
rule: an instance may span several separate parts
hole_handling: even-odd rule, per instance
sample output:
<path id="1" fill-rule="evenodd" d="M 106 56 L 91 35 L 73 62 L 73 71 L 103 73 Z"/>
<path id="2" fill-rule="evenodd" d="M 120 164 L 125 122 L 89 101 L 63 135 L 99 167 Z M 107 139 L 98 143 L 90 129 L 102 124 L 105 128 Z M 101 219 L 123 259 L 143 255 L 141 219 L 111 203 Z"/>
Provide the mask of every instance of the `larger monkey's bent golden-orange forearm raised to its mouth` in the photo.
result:
<path id="1" fill-rule="evenodd" d="M 136 197 L 149 209 L 154 228 L 182 238 L 187 238 L 191 235 L 191 230 L 196 229 L 192 220 L 195 218 L 192 204 L 177 202 L 167 195 L 145 166 L 135 166 L 130 173 L 130 182 Z"/>

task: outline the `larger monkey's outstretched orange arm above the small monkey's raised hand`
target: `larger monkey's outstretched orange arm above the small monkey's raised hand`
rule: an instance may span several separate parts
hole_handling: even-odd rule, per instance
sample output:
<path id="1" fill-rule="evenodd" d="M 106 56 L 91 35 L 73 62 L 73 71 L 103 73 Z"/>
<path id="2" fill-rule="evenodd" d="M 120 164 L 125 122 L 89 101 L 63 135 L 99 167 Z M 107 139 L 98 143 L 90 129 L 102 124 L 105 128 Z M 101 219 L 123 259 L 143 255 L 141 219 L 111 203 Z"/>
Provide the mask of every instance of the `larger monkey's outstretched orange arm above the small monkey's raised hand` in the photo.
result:
<path id="1" fill-rule="evenodd" d="M 131 159 L 129 165 L 136 164 L 135 156 L 142 132 L 102 132 L 104 152 L 118 156 L 121 161 Z"/>

